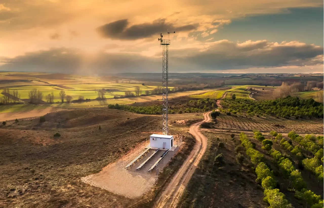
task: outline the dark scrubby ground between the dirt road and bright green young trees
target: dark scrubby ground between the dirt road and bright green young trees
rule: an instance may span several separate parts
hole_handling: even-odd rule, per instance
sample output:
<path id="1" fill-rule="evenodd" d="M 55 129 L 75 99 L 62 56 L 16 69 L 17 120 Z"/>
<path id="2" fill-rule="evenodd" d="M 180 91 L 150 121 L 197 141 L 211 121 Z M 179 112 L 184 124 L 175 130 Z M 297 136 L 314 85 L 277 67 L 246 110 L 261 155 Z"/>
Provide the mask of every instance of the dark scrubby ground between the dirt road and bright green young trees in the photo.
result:
<path id="1" fill-rule="evenodd" d="M 236 140 L 224 134 L 203 134 L 208 139 L 207 150 L 178 207 L 267 207 L 248 157 L 245 156 L 243 166 L 236 162 Z M 214 161 L 219 154 L 223 154 L 222 163 Z"/>

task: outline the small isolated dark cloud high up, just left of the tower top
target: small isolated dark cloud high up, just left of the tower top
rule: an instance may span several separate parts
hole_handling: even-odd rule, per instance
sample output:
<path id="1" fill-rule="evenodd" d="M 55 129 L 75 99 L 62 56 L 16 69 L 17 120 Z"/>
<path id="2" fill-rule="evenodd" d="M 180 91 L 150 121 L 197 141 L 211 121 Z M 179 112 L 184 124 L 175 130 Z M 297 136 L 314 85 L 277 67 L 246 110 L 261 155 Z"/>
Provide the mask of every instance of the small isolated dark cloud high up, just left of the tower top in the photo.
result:
<path id="1" fill-rule="evenodd" d="M 152 23 L 129 26 L 127 19 L 121 19 L 98 27 L 97 32 L 102 38 L 135 40 L 158 35 L 167 29 L 170 32 L 181 32 L 194 30 L 197 27 L 198 24 L 174 26 L 171 23 L 166 23 L 165 19 L 157 19 Z"/>

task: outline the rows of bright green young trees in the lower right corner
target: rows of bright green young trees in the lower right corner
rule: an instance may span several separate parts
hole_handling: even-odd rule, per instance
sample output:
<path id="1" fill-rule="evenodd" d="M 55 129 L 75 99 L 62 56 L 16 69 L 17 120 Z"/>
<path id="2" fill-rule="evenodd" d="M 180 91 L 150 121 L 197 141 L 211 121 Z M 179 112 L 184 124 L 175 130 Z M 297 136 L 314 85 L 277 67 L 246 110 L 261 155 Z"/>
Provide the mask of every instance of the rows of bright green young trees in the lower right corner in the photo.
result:
<path id="1" fill-rule="evenodd" d="M 262 135 L 260 132 L 255 132 L 255 135 Z M 278 134 L 275 131 L 271 131 L 270 134 L 274 137 L 274 141 L 280 140 L 280 146 L 289 150 L 291 153 L 296 155 L 298 161 L 302 161 L 303 167 L 307 170 L 314 172 L 318 176 L 319 180 L 324 181 L 324 167 L 320 165 L 320 161 L 324 161 L 324 137 L 306 135 L 304 138 L 297 135 L 294 131 L 289 132 L 288 141 L 282 137 L 282 134 Z M 293 147 L 293 143 L 302 144 L 304 149 L 311 151 L 314 154 L 312 159 L 306 158 L 302 152 L 302 148 L 299 146 Z M 306 206 L 311 206 L 312 208 L 323 207 L 324 200 L 321 196 L 315 194 L 311 190 L 307 190 L 306 183 L 304 182 L 301 172 L 295 169 L 292 161 L 288 158 L 284 158 L 282 153 L 277 150 L 271 150 L 271 156 L 274 161 L 278 164 L 284 173 L 286 178 L 289 178 L 289 184 L 292 186 L 293 191 L 295 191 L 295 197 L 302 199 L 306 202 Z"/>

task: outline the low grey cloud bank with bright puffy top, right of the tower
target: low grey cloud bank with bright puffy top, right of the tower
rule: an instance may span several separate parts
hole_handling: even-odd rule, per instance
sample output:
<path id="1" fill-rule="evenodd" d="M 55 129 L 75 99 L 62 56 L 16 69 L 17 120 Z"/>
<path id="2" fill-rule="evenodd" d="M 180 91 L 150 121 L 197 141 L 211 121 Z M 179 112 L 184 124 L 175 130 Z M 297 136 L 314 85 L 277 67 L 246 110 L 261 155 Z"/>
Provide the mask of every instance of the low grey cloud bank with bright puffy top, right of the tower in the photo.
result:
<path id="1" fill-rule="evenodd" d="M 247 69 L 324 64 L 324 48 L 297 41 L 274 43 L 267 40 L 235 43 L 221 40 L 204 49 L 170 51 L 178 62 L 189 62 L 209 70 Z"/>

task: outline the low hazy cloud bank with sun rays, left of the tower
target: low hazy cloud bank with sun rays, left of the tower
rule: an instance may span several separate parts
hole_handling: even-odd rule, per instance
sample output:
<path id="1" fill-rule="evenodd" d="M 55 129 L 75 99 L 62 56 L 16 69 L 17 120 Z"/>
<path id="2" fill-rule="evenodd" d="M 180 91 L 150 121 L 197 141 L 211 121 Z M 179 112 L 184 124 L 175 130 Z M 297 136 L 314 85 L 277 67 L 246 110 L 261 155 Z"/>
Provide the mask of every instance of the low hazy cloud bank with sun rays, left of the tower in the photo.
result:
<path id="1" fill-rule="evenodd" d="M 160 69 L 160 59 L 147 58 L 137 54 L 112 54 L 99 52 L 86 55 L 78 49 L 56 48 L 30 52 L 15 58 L 2 59 L 1 70 L 7 71 L 44 71 L 62 73 L 115 73 L 150 72 Z M 155 71 L 156 72 L 156 71 Z"/>

